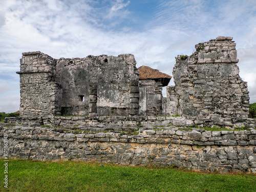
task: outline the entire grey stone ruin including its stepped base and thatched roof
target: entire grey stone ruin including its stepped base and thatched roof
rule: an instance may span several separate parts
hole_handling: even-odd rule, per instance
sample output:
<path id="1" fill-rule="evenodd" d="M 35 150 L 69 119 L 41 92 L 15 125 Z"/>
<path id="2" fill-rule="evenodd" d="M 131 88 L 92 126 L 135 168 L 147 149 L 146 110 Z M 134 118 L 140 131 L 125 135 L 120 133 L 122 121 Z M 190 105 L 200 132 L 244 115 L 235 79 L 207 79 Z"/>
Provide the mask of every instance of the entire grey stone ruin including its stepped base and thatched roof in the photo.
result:
<path id="1" fill-rule="evenodd" d="M 176 57 L 173 77 L 137 69 L 132 54 L 23 53 L 20 117 L 0 123 L 9 157 L 256 173 L 256 119 L 248 118 L 236 43 L 218 36 L 195 48 Z"/>

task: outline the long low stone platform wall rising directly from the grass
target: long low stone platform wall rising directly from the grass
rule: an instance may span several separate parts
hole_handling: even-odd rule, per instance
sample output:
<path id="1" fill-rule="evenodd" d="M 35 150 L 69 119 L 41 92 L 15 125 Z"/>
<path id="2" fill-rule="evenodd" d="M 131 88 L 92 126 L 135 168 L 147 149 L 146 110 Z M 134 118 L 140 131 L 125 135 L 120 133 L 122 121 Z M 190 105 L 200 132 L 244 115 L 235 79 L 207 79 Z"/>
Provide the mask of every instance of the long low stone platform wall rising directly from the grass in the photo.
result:
<path id="1" fill-rule="evenodd" d="M 210 132 L 178 127 L 127 127 L 72 132 L 31 126 L 0 126 L 10 158 L 83 160 L 122 165 L 169 165 L 197 170 L 256 173 L 256 130 Z M 0 155 L 4 155 L 1 138 Z"/>

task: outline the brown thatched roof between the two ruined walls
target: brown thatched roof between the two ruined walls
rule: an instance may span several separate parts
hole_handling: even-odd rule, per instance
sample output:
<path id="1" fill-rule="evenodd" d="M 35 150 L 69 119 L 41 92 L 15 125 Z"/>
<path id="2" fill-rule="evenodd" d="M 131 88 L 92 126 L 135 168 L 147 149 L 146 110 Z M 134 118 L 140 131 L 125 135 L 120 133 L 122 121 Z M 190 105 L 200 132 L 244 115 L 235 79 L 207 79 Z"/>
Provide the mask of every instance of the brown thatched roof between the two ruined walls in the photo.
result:
<path id="1" fill-rule="evenodd" d="M 172 76 L 160 72 L 151 67 L 141 66 L 138 68 L 140 75 L 139 79 L 161 79 L 163 87 L 167 86 Z"/>

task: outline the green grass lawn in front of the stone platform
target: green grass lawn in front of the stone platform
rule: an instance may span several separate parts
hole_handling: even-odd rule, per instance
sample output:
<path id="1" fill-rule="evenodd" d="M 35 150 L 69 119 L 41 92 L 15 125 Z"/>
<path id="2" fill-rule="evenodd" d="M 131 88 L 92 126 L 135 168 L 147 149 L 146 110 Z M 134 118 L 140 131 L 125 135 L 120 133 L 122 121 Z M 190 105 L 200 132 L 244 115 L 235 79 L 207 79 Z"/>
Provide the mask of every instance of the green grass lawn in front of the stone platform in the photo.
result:
<path id="1" fill-rule="evenodd" d="M 3 164 L 3 159 L 2 159 Z M 0 191 L 255 191 L 255 175 L 199 174 L 173 168 L 75 161 L 10 160 Z M 0 172 L 4 178 L 4 171 Z"/>

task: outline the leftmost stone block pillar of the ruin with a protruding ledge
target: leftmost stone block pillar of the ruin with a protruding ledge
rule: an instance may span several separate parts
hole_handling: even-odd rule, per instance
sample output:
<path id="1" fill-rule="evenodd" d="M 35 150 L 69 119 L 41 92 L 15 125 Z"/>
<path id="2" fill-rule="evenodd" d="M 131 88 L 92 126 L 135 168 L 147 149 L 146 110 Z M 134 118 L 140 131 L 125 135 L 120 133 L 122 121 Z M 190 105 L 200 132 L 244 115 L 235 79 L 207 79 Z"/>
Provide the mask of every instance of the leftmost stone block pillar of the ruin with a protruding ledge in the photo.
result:
<path id="1" fill-rule="evenodd" d="M 36 117 L 60 112 L 61 90 L 54 81 L 56 60 L 41 53 L 23 53 L 20 59 L 20 116 Z"/>

